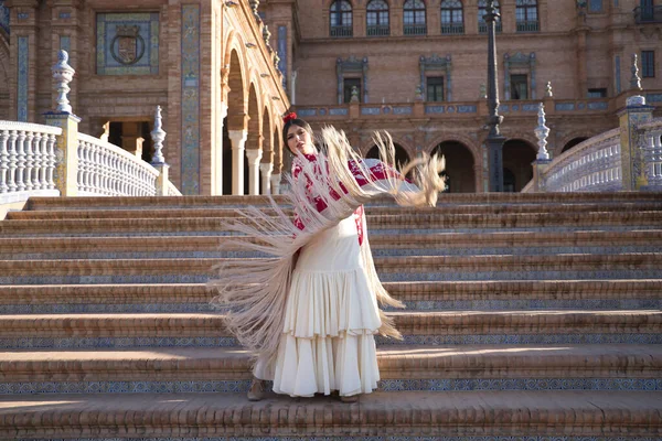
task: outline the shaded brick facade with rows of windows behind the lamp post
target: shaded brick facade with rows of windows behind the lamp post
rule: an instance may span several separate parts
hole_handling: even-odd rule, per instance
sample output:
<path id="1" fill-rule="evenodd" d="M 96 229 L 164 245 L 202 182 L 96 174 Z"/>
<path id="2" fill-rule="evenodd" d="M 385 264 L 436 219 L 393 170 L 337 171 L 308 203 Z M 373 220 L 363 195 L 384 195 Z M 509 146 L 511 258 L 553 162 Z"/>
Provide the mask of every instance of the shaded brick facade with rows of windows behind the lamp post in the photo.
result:
<path id="1" fill-rule="evenodd" d="M 487 190 L 484 0 L 299 0 L 293 22 L 282 1 L 260 7 L 292 35 L 284 72 L 300 116 L 344 129 L 366 154 L 371 133 L 387 129 L 403 159 L 445 154 L 451 192 Z M 649 104 L 662 104 L 662 6 L 500 0 L 499 10 L 506 189 L 531 179 L 540 101 L 554 155 L 618 127 L 633 54 Z"/>

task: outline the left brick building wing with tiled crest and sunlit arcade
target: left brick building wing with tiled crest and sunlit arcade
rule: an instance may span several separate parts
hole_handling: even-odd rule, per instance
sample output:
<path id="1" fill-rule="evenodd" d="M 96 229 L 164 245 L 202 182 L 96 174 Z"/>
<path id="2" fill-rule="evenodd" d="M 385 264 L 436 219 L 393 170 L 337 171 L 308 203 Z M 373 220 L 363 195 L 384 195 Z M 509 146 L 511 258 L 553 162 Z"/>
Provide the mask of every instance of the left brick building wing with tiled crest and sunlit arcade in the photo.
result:
<path id="1" fill-rule="evenodd" d="M 276 122 L 289 100 L 255 7 L 0 1 L 0 118 L 43 122 L 55 95 L 50 69 L 66 50 L 76 69 L 70 99 L 81 131 L 149 160 L 160 105 L 166 160 L 183 194 L 266 193 L 280 181 Z"/>

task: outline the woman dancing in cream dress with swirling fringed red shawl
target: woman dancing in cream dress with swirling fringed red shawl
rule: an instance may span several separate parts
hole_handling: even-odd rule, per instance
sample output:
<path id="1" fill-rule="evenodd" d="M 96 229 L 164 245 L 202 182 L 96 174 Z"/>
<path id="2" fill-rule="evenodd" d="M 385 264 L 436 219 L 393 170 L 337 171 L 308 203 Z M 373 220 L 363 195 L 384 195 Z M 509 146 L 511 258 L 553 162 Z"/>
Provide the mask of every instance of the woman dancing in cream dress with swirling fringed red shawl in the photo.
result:
<path id="1" fill-rule="evenodd" d="M 279 222 L 289 224 L 287 226 L 293 234 L 287 239 L 281 238 L 291 240 L 286 250 L 282 247 L 275 250 L 274 246 L 270 250 L 261 250 L 280 257 L 278 261 L 285 262 L 285 268 L 261 271 L 263 283 L 258 284 L 263 290 L 270 290 L 266 297 L 271 298 L 268 302 L 271 306 L 263 303 L 256 308 L 255 300 L 250 302 L 246 294 L 239 294 L 239 301 L 237 297 L 229 299 L 235 308 L 254 311 L 249 318 L 238 321 L 234 313 L 234 331 L 241 341 L 242 335 L 245 337 L 255 330 L 263 332 L 270 327 L 269 337 L 276 333 L 274 330 L 278 331 L 275 344 L 258 349 L 254 367 L 256 379 L 248 399 L 259 400 L 261 380 L 273 379 L 277 394 L 311 397 L 338 391 L 342 401 L 353 402 L 360 394 L 370 394 L 377 387 L 380 372 L 374 335 L 399 337 L 393 323 L 378 309 L 377 301 L 403 306 L 388 297 L 376 276 L 362 202 L 383 193 L 406 204 L 436 201 L 436 194 L 444 185 L 438 178 L 439 163 L 428 166 L 431 185 L 426 185 L 426 191 L 421 192 L 405 182 L 393 166 L 357 158 L 344 136 L 334 130 L 327 129 L 323 133 L 328 155 L 317 151 L 310 126 L 295 114 L 286 116 L 282 133 L 285 143 L 295 154 L 290 195 L 295 216 L 284 219 L 279 212 Z M 392 147 L 389 141 L 380 143 Z M 255 209 L 246 215 L 253 220 L 260 218 Z M 264 224 L 273 227 L 278 223 L 265 220 Z M 268 229 L 266 226 L 250 229 L 245 225 L 238 228 L 242 233 L 273 241 L 274 232 Z M 265 276 L 269 272 L 270 276 Z M 226 284 L 227 276 L 232 279 L 233 275 L 237 276 L 227 271 L 227 267 L 222 269 Z M 276 289 L 268 282 L 275 280 Z M 243 284 L 247 284 L 245 278 Z M 235 284 L 234 289 L 237 288 Z M 228 290 L 226 287 L 225 295 L 224 292 L 221 295 L 226 301 L 232 297 Z M 254 290 L 253 295 L 260 294 Z M 271 315 L 282 315 L 282 320 L 265 316 L 267 310 Z M 229 327 L 232 330 L 233 325 Z M 243 343 L 259 345 L 255 340 Z"/>

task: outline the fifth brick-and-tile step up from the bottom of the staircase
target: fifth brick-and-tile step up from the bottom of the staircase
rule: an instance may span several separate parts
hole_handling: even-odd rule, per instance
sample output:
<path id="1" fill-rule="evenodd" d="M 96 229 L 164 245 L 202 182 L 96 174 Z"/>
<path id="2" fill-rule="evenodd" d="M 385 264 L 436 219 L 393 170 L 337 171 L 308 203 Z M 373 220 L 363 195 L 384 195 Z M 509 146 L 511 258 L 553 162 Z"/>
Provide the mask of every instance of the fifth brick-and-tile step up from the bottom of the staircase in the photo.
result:
<path id="1" fill-rule="evenodd" d="M 248 261 L 249 259 L 244 259 Z M 195 283 L 227 259 L 0 260 L 0 284 Z M 375 257 L 382 281 L 662 278 L 662 254 Z"/>

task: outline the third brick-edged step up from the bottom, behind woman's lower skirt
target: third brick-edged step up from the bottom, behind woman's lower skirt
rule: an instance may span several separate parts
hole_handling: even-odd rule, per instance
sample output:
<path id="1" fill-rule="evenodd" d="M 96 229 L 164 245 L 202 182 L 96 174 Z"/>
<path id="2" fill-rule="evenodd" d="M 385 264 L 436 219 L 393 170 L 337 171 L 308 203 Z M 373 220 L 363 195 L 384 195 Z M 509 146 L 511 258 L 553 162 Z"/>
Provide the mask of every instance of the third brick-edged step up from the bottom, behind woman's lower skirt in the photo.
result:
<path id="1" fill-rule="evenodd" d="M 659 344 L 662 311 L 389 312 L 404 340 L 435 344 Z M 222 313 L 0 315 L 0 348 L 236 346 Z"/>

